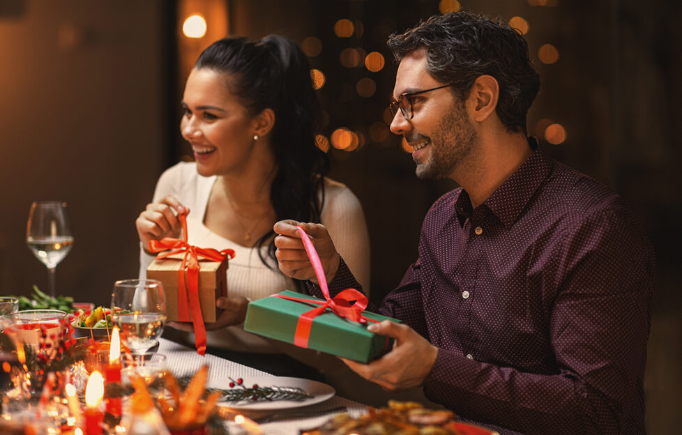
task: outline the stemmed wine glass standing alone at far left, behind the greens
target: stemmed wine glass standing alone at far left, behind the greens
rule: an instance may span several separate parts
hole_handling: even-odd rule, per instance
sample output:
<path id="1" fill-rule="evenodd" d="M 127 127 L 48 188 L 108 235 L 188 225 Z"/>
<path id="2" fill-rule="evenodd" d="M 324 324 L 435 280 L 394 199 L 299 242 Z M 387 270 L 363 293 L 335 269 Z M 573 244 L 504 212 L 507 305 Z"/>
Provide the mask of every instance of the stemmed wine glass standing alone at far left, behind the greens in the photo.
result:
<path id="1" fill-rule="evenodd" d="M 26 244 L 47 267 L 50 296 L 54 298 L 54 269 L 73 247 L 66 202 L 36 201 L 31 204 L 29 222 L 26 224 Z"/>

